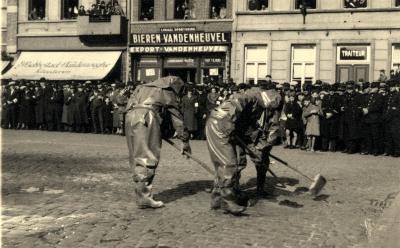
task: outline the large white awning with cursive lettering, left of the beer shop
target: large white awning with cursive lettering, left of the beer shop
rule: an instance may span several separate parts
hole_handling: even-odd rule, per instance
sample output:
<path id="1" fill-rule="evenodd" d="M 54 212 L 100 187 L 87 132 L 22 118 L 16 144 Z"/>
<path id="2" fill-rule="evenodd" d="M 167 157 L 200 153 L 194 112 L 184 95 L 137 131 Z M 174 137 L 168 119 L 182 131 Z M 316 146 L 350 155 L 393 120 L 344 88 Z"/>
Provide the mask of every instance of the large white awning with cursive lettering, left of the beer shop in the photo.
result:
<path id="1" fill-rule="evenodd" d="M 5 79 L 100 80 L 112 70 L 120 51 L 22 52 Z"/>

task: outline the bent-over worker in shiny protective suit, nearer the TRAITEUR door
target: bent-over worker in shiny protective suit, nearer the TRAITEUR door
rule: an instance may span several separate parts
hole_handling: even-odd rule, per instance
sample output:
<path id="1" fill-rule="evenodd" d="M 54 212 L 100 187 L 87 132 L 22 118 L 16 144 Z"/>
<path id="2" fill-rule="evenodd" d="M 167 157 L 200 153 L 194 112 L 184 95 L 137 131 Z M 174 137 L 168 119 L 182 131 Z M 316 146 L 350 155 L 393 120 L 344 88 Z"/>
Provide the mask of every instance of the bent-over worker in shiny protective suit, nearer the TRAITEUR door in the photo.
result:
<path id="1" fill-rule="evenodd" d="M 211 193 L 212 209 L 221 208 L 234 215 L 246 209 L 239 205 L 242 198 L 239 179 L 246 163 L 243 150 L 237 149 L 241 146 L 238 138 L 257 155 L 254 159 L 257 191 L 263 191 L 269 166 L 268 154 L 279 130 L 276 110 L 281 104 L 281 96 L 273 88 L 271 83 L 265 83 L 236 93 L 210 113 L 206 137 L 216 173 Z"/>

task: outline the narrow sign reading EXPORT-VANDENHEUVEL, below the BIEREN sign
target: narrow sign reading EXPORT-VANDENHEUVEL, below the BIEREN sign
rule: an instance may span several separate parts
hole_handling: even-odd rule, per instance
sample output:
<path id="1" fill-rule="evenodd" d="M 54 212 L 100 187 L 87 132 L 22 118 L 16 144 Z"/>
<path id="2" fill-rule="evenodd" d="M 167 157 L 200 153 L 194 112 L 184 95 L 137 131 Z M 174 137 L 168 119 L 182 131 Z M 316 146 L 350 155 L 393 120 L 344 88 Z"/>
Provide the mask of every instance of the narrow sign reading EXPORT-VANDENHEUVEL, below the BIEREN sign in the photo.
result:
<path id="1" fill-rule="evenodd" d="M 131 53 L 216 53 L 226 52 L 227 46 L 134 46 Z"/>

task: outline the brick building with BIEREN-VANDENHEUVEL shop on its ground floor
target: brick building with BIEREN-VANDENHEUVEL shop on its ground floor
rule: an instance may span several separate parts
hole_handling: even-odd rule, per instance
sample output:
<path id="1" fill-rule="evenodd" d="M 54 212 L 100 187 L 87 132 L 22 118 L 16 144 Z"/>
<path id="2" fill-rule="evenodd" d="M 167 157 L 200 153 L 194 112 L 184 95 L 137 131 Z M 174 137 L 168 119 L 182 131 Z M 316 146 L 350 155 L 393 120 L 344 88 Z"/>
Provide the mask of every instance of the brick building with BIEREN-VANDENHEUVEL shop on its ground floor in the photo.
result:
<path id="1" fill-rule="evenodd" d="M 131 1 L 131 78 L 167 75 L 187 82 L 230 77 L 230 0 Z"/>

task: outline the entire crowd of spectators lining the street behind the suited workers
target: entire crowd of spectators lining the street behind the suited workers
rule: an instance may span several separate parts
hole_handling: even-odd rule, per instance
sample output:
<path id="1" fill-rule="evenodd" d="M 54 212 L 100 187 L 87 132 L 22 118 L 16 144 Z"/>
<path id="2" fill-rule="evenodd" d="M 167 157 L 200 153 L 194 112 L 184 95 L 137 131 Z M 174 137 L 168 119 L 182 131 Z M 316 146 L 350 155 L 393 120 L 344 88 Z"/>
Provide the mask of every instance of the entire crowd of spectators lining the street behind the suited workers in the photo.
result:
<path id="1" fill-rule="evenodd" d="M 400 156 L 400 75 L 376 82 L 278 84 L 280 142 L 288 149 Z M 2 128 L 123 134 L 124 110 L 137 84 L 41 80 L 10 82 L 2 91 Z M 250 84 L 188 84 L 181 99 L 191 139 L 204 140 L 208 114 Z"/>

